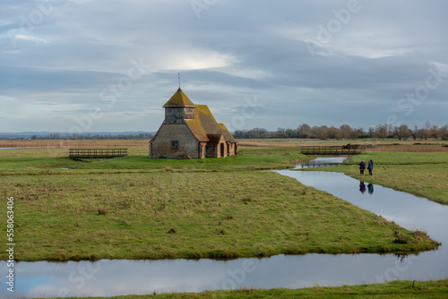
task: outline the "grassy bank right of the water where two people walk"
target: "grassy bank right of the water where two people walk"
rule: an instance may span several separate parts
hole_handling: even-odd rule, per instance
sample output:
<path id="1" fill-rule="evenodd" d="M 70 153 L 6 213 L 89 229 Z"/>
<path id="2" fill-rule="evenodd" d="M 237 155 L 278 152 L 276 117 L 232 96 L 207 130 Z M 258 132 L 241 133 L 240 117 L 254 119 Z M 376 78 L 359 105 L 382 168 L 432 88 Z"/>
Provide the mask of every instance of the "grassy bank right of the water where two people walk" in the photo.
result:
<path id="1" fill-rule="evenodd" d="M 448 204 L 448 152 L 365 152 L 353 156 L 341 167 L 322 167 L 321 170 L 343 172 L 359 179 L 358 163 L 372 159 L 374 175 L 367 170 L 362 179 L 394 190 L 409 192 L 430 201 Z"/>

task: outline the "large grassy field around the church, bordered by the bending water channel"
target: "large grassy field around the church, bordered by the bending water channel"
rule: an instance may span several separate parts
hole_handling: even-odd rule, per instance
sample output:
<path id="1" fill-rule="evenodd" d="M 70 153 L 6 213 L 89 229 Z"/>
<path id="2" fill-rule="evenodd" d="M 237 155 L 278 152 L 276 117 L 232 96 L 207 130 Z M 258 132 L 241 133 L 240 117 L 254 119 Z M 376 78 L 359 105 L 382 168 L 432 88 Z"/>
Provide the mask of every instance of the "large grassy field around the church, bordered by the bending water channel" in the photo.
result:
<path id="1" fill-rule="evenodd" d="M 4 201 L 15 198 L 16 258 L 228 259 L 437 246 L 326 192 L 254 171 L 306 159 L 297 148 L 201 160 L 154 160 L 146 147 L 129 149 L 126 158 L 83 162 L 65 158 L 66 149 L 0 150 L 1 192 Z"/>

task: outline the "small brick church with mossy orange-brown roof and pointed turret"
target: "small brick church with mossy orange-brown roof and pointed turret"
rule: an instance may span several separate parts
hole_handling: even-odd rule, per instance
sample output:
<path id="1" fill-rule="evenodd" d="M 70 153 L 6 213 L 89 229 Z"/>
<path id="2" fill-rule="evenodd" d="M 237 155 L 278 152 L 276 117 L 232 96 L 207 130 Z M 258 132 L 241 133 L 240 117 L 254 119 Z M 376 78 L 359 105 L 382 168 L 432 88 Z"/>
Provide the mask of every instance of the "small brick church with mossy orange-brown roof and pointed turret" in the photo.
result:
<path id="1" fill-rule="evenodd" d="M 194 105 L 179 88 L 163 106 L 165 120 L 150 141 L 150 158 L 225 158 L 237 141 L 217 124 L 209 107 Z"/>

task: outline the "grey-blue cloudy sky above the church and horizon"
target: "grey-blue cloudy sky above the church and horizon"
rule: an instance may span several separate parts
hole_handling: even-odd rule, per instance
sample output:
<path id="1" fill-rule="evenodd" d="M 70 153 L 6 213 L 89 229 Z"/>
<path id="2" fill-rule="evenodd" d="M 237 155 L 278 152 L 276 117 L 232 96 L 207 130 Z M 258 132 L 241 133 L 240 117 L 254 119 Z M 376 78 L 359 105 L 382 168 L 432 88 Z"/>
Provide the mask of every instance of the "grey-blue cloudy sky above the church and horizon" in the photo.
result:
<path id="1" fill-rule="evenodd" d="M 2 0 L 0 132 L 448 124 L 444 0 Z"/>

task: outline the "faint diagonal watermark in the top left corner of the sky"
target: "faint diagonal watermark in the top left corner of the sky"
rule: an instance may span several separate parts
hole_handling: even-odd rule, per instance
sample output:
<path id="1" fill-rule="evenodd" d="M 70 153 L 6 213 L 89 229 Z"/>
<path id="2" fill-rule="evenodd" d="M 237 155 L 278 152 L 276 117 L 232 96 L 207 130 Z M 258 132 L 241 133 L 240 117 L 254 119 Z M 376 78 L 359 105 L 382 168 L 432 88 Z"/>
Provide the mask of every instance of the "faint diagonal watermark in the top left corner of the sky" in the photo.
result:
<path id="1" fill-rule="evenodd" d="M 55 12 L 56 5 L 65 3 L 66 0 L 34 1 L 34 9 L 30 13 L 19 16 L 19 28 L 9 30 L 7 36 L 13 48 L 17 48 L 17 39 L 30 36 L 31 33 L 44 21 L 51 13 Z"/>

